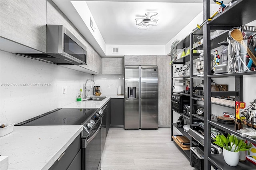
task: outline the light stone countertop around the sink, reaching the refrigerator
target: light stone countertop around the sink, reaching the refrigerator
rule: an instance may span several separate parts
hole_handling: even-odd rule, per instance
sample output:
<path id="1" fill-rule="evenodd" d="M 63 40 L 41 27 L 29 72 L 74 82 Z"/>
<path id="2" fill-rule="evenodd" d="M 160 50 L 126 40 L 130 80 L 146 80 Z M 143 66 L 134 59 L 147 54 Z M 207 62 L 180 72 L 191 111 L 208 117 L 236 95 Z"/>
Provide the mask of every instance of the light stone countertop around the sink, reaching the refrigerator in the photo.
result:
<path id="1" fill-rule="evenodd" d="M 73 103 L 70 103 L 68 105 L 65 105 L 62 107 L 62 109 L 83 109 L 83 108 L 102 108 L 111 98 L 124 98 L 124 95 L 102 95 L 99 97 L 105 97 L 106 98 L 102 101 L 75 101 Z M 89 98 L 89 97 L 88 97 Z"/>

